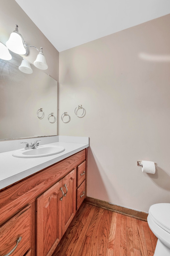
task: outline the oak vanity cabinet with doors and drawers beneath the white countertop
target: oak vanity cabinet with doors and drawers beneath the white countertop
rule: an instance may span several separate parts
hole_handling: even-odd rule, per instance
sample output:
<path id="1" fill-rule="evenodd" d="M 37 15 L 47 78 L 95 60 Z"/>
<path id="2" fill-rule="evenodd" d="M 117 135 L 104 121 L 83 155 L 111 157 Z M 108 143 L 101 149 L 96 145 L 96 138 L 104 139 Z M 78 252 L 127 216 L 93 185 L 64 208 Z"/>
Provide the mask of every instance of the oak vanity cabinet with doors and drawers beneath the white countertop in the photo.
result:
<path id="1" fill-rule="evenodd" d="M 0 190 L 1 256 L 12 249 L 15 256 L 52 255 L 86 198 L 84 147 Z"/>

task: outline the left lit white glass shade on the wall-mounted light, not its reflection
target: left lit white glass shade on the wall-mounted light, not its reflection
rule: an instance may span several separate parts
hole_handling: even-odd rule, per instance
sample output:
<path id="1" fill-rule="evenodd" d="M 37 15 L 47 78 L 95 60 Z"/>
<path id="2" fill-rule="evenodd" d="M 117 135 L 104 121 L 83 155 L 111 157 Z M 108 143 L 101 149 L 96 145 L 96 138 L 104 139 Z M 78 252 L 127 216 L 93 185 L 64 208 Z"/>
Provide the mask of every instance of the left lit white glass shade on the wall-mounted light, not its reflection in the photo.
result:
<path id="1" fill-rule="evenodd" d="M 26 53 L 22 38 L 16 32 L 11 33 L 9 40 L 6 42 L 6 46 L 12 52 L 15 52 L 17 54 L 25 54 Z"/>

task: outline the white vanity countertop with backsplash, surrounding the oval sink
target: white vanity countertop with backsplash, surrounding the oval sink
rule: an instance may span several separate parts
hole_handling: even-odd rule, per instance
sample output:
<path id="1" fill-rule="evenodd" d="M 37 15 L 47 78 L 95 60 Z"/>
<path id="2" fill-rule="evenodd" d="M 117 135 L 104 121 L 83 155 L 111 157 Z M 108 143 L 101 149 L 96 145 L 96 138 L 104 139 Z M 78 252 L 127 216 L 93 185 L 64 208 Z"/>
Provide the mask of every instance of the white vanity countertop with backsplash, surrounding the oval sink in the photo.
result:
<path id="1" fill-rule="evenodd" d="M 66 157 L 69 157 L 89 146 L 88 137 L 72 137 L 72 136 L 54 136 L 52 143 L 44 143 L 46 145 L 58 145 L 65 148 L 61 153 L 52 156 L 19 158 L 12 156 L 12 151 L 0 153 L 0 189 L 5 188 L 14 182 L 17 182 L 27 176 L 36 173 L 52 164 L 55 164 Z M 41 138 L 29 139 L 33 142 L 41 140 Z M 28 141 L 28 139 L 19 140 Z M 57 141 L 56 141 L 57 140 Z M 50 142 L 52 138 L 50 137 Z M 12 141 L 10 141 L 11 143 Z M 47 141 L 46 141 L 47 142 Z M 16 143 L 16 141 L 14 141 Z M 41 145 L 44 145 L 41 144 Z M 1 145 L 1 144 L 0 144 Z M 23 147 L 23 144 L 22 144 Z M 16 148 L 18 149 L 18 148 Z"/>

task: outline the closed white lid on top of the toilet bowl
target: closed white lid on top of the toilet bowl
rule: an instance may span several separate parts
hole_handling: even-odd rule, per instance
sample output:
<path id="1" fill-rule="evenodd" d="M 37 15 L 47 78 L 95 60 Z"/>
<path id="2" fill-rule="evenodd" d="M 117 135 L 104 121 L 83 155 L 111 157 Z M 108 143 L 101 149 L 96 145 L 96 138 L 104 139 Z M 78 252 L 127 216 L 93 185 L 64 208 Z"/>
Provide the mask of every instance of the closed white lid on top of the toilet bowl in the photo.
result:
<path id="1" fill-rule="evenodd" d="M 170 203 L 151 205 L 149 214 L 159 226 L 170 233 Z"/>

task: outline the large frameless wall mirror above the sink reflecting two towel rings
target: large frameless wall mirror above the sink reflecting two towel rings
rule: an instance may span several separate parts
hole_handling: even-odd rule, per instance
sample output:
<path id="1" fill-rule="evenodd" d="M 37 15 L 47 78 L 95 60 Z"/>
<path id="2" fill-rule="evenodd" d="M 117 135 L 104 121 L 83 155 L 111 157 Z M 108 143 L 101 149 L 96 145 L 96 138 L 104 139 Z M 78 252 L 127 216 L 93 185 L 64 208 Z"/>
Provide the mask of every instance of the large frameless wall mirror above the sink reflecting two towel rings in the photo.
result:
<path id="1" fill-rule="evenodd" d="M 0 59 L 0 141 L 57 135 L 57 81 L 32 64 L 32 74 L 21 72 L 23 58 L 10 53 Z"/>

